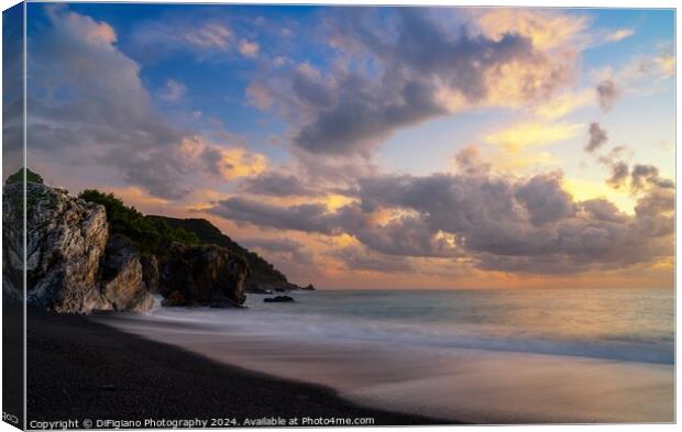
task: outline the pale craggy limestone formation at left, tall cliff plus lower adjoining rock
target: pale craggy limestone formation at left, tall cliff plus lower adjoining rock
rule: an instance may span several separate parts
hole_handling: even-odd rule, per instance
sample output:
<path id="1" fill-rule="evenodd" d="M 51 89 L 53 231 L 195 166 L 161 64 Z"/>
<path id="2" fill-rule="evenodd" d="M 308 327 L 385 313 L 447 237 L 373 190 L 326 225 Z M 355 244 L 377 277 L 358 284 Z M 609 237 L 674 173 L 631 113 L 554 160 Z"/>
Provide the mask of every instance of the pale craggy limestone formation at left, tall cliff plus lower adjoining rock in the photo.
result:
<path id="1" fill-rule="evenodd" d="M 3 292 L 15 299 L 23 297 L 22 186 L 8 185 L 2 193 Z M 142 272 L 135 254 L 122 251 L 119 243 L 107 247 L 102 206 L 28 182 L 26 230 L 28 304 L 65 313 L 151 308 L 146 290 L 136 284 Z"/>

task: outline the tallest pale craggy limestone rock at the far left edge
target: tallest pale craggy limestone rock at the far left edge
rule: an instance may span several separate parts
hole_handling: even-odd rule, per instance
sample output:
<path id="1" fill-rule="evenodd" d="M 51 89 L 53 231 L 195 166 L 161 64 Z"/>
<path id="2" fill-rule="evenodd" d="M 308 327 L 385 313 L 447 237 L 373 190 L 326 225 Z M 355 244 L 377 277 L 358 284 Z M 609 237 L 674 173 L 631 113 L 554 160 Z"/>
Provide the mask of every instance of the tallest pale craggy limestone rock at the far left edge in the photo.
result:
<path id="1" fill-rule="evenodd" d="M 22 184 L 6 186 L 3 267 L 11 281 L 4 289 L 21 293 L 23 261 Z M 107 215 L 63 190 L 26 184 L 26 302 L 57 312 L 87 313 L 102 307 L 97 289 L 99 262 L 107 243 Z"/>

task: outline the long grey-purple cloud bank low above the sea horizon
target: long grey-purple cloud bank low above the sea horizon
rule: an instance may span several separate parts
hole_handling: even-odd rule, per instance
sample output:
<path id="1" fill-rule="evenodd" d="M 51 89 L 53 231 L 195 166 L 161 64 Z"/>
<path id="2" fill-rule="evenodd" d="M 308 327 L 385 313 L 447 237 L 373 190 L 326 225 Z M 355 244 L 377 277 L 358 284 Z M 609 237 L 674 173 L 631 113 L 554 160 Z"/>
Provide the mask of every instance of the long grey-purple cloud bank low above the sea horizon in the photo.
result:
<path id="1" fill-rule="evenodd" d="M 360 251 L 384 256 L 453 264 L 465 257 L 483 269 L 570 274 L 671 256 L 672 201 L 666 191 L 673 191 L 672 182 L 638 173 L 649 186 L 634 215 L 605 199 L 575 201 L 560 173 L 518 178 L 490 171 L 364 178 L 352 192 L 360 201 L 337 210 L 233 197 L 209 211 L 279 230 L 351 235 L 365 248 Z M 341 255 L 351 263 L 363 256 L 358 250 Z"/>

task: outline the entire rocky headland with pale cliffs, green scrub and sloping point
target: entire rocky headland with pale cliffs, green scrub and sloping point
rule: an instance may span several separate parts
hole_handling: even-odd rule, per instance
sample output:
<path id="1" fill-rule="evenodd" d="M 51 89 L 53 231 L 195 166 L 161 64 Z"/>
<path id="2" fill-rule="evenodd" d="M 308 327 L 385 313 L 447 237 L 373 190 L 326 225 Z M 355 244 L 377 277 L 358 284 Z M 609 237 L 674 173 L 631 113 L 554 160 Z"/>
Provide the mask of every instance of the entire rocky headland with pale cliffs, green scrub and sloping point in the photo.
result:
<path id="1" fill-rule="evenodd" d="M 26 178 L 26 302 L 64 313 L 141 312 L 153 306 L 241 307 L 246 292 L 299 287 L 201 219 L 145 217 L 110 193 Z M 23 173 L 6 182 L 3 301 L 23 297 Z M 287 296 L 284 296 L 287 297 Z"/>

